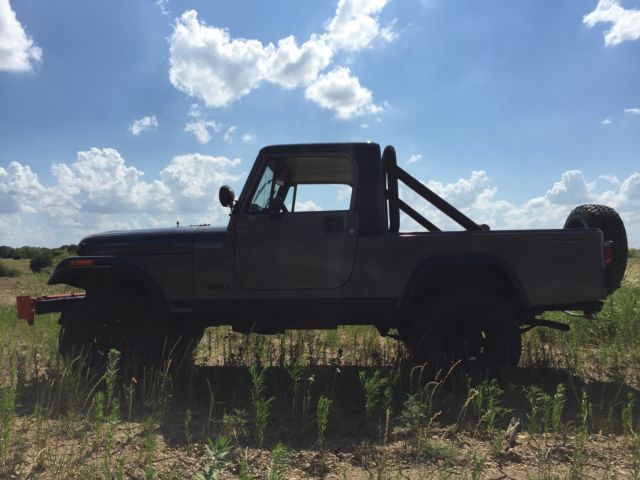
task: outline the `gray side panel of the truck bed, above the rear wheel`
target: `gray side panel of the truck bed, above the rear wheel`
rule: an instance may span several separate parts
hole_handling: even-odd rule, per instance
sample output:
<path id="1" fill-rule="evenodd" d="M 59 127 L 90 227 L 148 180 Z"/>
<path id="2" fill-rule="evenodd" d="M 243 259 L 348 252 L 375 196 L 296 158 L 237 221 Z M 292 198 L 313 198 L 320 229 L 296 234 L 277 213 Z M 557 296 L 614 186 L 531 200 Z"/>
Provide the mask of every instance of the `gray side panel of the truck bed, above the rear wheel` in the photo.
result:
<path id="1" fill-rule="evenodd" d="M 387 234 L 359 239 L 347 296 L 401 297 L 416 267 L 437 257 L 494 258 L 532 306 L 606 297 L 600 230 Z"/>

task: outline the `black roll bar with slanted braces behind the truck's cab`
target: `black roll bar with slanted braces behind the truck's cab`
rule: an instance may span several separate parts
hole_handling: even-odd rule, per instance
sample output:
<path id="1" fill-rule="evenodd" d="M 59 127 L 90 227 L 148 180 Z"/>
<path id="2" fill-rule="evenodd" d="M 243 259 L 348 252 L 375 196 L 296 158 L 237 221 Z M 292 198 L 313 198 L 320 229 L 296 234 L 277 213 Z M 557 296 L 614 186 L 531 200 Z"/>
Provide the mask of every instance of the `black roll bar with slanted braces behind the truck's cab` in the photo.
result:
<path id="1" fill-rule="evenodd" d="M 427 188 L 409 173 L 400 168 L 396 160 L 396 151 L 391 145 L 384 149 L 384 153 L 382 154 L 382 164 L 387 177 L 385 196 L 389 200 L 389 232 L 397 233 L 400 230 L 400 210 L 409 215 L 413 220 L 430 232 L 440 231 L 436 225 L 400 200 L 398 197 L 398 181 L 404 183 L 407 187 L 427 200 L 431 205 L 436 207 L 464 229 L 484 230 L 480 225 L 444 200 L 433 190 Z"/>

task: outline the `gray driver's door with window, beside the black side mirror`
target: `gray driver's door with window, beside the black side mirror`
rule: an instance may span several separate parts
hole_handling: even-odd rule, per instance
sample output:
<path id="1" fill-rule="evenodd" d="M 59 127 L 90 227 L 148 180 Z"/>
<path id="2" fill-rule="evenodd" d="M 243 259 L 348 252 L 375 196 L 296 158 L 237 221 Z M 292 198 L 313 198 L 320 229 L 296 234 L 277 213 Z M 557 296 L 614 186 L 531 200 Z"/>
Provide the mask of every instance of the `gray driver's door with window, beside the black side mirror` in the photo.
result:
<path id="1" fill-rule="evenodd" d="M 344 285 L 358 238 L 354 175 L 353 159 L 345 156 L 267 160 L 251 201 L 235 219 L 236 281 L 248 290 Z"/>

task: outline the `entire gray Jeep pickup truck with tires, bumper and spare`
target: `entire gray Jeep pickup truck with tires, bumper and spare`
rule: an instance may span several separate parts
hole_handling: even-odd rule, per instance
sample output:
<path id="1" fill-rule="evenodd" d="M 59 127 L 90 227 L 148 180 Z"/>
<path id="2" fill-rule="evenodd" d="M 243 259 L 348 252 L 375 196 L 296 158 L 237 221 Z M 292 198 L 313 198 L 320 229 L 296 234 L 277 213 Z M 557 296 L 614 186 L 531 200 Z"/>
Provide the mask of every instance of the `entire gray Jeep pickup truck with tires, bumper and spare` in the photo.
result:
<path id="1" fill-rule="evenodd" d="M 399 182 L 464 230 L 441 231 L 400 198 Z M 343 209 L 309 210 L 322 202 L 309 192 L 332 186 Z M 19 317 L 61 312 L 60 353 L 94 359 L 110 348 L 189 356 L 214 325 L 261 334 L 374 325 L 394 329 L 421 362 L 504 368 L 517 364 L 522 332 L 568 329 L 540 314 L 590 317 L 626 268 L 624 225 L 609 207 L 579 206 L 563 229 L 491 231 L 375 143 L 265 147 L 238 200 L 227 186 L 219 196 L 226 227 L 84 238 L 49 284 L 85 292 L 19 297 Z M 427 231 L 400 233 L 400 211 Z"/>

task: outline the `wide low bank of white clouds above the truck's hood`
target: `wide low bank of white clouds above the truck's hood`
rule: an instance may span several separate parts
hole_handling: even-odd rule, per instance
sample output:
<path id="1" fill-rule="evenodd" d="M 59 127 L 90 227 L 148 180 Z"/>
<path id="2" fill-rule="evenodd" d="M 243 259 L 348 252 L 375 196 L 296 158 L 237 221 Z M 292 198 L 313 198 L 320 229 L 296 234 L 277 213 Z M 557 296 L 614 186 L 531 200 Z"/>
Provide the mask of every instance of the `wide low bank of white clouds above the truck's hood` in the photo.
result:
<path id="1" fill-rule="evenodd" d="M 75 161 L 52 165 L 44 184 L 28 165 L 0 167 L 0 225 L 3 242 L 55 245 L 105 229 L 211 223 L 225 215 L 217 200 L 233 183 L 239 159 L 185 154 L 157 175 L 128 164 L 113 148 L 78 152 Z"/>

